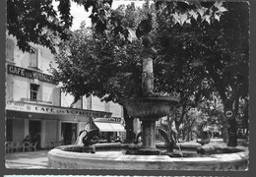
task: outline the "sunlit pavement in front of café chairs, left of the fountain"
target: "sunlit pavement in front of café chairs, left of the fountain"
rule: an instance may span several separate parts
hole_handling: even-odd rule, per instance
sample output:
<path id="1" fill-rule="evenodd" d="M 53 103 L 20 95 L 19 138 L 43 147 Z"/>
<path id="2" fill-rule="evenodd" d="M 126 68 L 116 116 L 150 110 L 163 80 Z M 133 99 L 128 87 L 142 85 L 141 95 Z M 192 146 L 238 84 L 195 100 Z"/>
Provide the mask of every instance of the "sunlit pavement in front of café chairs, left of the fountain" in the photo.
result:
<path id="1" fill-rule="evenodd" d="M 45 169 L 47 153 L 48 150 L 6 153 L 5 166 L 12 169 Z"/>

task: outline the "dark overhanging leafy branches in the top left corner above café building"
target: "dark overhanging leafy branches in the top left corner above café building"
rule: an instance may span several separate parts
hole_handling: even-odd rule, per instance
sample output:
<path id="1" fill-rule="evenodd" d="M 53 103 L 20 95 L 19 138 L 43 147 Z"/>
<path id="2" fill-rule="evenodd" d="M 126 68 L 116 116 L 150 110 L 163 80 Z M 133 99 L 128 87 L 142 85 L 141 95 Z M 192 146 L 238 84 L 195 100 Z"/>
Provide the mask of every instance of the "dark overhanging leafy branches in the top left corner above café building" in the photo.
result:
<path id="1" fill-rule="evenodd" d="M 70 14 L 71 0 L 57 0 L 57 10 L 52 0 L 7 0 L 7 30 L 17 38 L 22 51 L 34 52 L 30 42 L 48 47 L 56 53 L 61 40 L 70 36 L 73 17 Z M 104 29 L 105 12 L 110 8 L 111 0 L 80 1 L 86 11 L 92 7 L 91 19 L 97 30 Z M 108 5 L 108 6 L 107 6 Z M 58 17 L 59 13 L 59 17 Z"/>

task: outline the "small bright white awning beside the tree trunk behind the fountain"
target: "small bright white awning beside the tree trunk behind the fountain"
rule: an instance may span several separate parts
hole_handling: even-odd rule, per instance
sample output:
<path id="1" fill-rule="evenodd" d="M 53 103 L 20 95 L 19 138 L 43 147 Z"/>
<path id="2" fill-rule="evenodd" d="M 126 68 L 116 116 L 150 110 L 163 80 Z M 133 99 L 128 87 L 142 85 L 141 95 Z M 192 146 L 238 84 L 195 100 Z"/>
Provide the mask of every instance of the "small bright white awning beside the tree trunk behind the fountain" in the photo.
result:
<path id="1" fill-rule="evenodd" d="M 124 126 L 119 123 L 95 122 L 100 132 L 125 132 Z"/>

